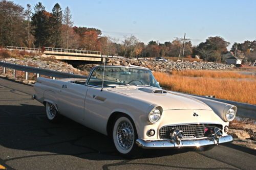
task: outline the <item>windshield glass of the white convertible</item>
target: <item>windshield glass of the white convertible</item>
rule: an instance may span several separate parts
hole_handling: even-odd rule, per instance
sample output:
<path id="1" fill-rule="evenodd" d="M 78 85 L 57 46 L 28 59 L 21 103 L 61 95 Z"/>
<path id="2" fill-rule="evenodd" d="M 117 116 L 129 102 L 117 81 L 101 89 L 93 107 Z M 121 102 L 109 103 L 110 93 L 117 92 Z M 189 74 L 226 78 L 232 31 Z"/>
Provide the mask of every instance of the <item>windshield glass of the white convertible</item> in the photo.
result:
<path id="1" fill-rule="evenodd" d="M 103 66 L 93 70 L 88 85 L 102 87 Z M 116 87 L 121 85 L 153 86 L 158 82 L 150 70 L 132 67 L 105 67 L 103 87 Z"/>

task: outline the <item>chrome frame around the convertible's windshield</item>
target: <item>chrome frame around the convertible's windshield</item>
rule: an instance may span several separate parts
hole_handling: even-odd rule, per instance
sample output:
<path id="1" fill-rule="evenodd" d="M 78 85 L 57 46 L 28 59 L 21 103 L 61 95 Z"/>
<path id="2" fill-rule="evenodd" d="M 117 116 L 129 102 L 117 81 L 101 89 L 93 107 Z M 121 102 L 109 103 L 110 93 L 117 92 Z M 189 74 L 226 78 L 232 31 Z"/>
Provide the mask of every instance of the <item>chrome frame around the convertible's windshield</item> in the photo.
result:
<path id="1" fill-rule="evenodd" d="M 85 84 L 86 86 L 89 86 L 89 87 L 96 87 L 96 88 L 102 88 L 101 86 L 94 86 L 94 85 L 88 84 L 88 82 L 90 81 L 90 79 L 91 79 L 91 77 L 92 77 L 93 71 L 94 71 L 95 69 L 99 68 L 99 67 L 102 67 L 102 68 L 103 68 L 104 65 L 98 65 L 98 66 L 95 66 L 95 67 L 92 68 L 92 70 L 91 70 L 91 72 L 90 72 L 90 74 L 89 74 L 89 76 L 88 76 L 88 79 L 87 79 L 87 81 L 86 81 L 86 84 Z M 122 66 L 122 65 L 106 65 L 105 67 L 124 67 L 124 68 L 143 69 L 143 70 L 149 71 L 149 72 L 152 74 L 152 76 L 154 77 L 152 71 L 151 71 L 150 69 L 148 69 L 148 68 L 145 68 L 145 67 L 139 67 L 139 66 Z M 154 77 L 154 79 L 156 80 L 155 77 Z M 156 81 L 157 81 L 157 80 L 156 80 Z M 126 84 L 126 85 L 129 85 L 129 84 Z M 158 85 L 159 85 L 159 84 L 158 84 Z M 121 86 L 122 86 L 122 85 L 121 85 Z M 146 85 L 135 85 L 135 86 L 146 86 Z M 147 85 L 147 86 L 149 86 L 149 85 Z M 113 86 L 113 87 L 104 87 L 104 86 L 103 86 L 103 88 L 114 88 L 114 87 L 119 87 L 119 86 Z M 150 86 L 150 87 L 154 87 L 154 86 Z M 160 85 L 159 85 L 159 87 L 155 87 L 155 88 L 161 88 L 161 87 L 160 87 Z"/>

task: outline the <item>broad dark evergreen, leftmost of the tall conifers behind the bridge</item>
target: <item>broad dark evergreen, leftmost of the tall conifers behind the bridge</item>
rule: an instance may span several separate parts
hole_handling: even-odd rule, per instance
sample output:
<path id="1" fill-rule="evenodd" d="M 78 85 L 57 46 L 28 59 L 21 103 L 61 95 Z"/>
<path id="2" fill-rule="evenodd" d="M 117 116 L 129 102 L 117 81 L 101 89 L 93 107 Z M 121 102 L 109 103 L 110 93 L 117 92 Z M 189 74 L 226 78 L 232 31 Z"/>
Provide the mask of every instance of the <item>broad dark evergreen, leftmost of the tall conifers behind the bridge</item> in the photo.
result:
<path id="1" fill-rule="evenodd" d="M 35 5 L 31 23 L 34 27 L 35 45 L 38 47 L 50 45 L 50 17 L 51 14 L 40 2 Z"/>

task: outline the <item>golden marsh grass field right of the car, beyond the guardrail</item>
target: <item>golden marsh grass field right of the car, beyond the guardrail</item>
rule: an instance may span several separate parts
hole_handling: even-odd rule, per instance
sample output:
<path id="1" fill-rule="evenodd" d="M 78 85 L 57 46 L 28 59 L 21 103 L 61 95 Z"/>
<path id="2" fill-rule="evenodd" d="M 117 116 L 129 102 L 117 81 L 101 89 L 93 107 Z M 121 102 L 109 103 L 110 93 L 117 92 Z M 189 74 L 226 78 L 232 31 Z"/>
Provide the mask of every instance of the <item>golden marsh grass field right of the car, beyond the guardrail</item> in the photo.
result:
<path id="1" fill-rule="evenodd" d="M 154 72 L 161 87 L 198 95 L 256 104 L 256 76 L 234 71 L 184 70 L 172 74 Z"/>

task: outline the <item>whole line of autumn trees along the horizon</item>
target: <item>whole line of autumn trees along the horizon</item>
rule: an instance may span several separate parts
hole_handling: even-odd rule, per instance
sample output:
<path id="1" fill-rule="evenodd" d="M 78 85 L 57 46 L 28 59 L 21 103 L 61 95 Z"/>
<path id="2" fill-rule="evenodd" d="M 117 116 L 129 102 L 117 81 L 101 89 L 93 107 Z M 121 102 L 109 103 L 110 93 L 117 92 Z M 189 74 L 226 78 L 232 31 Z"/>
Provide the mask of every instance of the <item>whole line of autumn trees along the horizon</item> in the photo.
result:
<path id="1" fill-rule="evenodd" d="M 200 56 L 204 61 L 221 62 L 221 55 L 230 43 L 220 36 L 208 37 L 204 42 L 193 46 L 185 39 L 184 56 Z M 64 10 L 56 3 L 48 12 L 38 2 L 32 11 L 12 1 L 0 1 L 0 46 L 57 47 L 100 51 L 103 55 L 131 57 L 177 57 L 183 53 L 183 38 L 161 43 L 152 40 L 147 44 L 134 35 L 118 39 L 103 36 L 96 28 L 76 27 L 69 7 Z M 256 59 L 256 40 L 235 42 L 231 51 L 239 51 L 251 61 Z"/>

